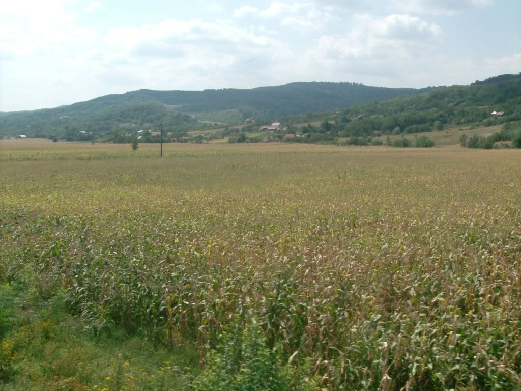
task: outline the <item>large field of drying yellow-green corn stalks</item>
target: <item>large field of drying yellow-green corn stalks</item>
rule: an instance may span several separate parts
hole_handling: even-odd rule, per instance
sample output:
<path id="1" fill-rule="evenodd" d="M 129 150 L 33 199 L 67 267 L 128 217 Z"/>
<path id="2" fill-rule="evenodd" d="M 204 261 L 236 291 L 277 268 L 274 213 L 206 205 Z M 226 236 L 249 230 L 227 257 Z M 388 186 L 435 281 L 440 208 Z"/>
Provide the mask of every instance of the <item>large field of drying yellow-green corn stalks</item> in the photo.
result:
<path id="1" fill-rule="evenodd" d="M 519 389 L 518 151 L 157 150 L 0 141 L 0 280 L 202 360 L 255 319 L 322 389 Z"/>

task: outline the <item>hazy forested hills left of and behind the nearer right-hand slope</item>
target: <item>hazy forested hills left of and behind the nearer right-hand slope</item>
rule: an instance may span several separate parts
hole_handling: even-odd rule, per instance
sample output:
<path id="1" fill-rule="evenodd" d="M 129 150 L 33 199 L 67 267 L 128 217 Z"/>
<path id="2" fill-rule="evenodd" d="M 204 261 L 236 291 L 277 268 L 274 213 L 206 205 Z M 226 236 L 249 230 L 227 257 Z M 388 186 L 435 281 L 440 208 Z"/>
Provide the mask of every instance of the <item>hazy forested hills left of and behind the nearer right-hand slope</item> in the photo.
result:
<path id="1" fill-rule="evenodd" d="M 68 138 L 89 133 L 100 137 L 114 132 L 117 124 L 130 124 L 134 128 L 146 125 L 156 129 L 160 122 L 175 125 L 176 130 L 187 131 L 200 128 L 201 124 L 182 113 L 215 113 L 233 109 L 242 117 L 241 121 L 250 117 L 270 119 L 340 109 L 429 89 L 309 82 L 249 90 L 138 90 L 52 109 L 0 113 L 0 137 L 19 134 L 48 137 L 66 133 L 70 133 Z"/>

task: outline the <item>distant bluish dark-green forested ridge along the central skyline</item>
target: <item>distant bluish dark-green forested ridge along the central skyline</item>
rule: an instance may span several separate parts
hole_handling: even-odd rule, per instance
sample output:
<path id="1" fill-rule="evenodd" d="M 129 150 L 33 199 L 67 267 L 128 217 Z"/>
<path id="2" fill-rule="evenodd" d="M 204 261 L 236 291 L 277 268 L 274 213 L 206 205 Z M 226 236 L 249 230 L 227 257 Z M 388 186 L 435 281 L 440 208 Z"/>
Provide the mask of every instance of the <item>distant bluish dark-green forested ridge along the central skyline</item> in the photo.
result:
<path id="1" fill-rule="evenodd" d="M 357 83 L 308 82 L 245 89 L 204 91 L 139 90 L 121 95 L 101 96 L 78 105 L 111 105 L 159 102 L 176 106 L 181 112 L 213 112 L 226 109 L 251 109 L 270 116 L 324 112 L 361 102 L 390 99 L 427 89 L 371 87 Z"/>

